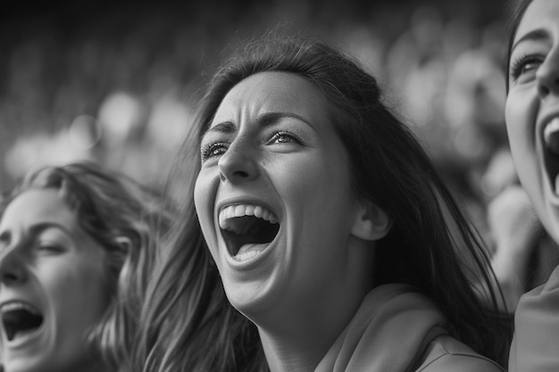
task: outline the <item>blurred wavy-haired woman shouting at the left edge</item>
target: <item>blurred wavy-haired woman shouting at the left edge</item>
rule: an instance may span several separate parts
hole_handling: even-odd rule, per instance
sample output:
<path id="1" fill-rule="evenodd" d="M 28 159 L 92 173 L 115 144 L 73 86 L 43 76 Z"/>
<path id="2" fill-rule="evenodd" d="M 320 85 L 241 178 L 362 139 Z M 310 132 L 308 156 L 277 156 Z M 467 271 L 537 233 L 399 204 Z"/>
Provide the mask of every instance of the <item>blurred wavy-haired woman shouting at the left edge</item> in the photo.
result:
<path id="1" fill-rule="evenodd" d="M 4 372 L 123 367 L 170 218 L 155 194 L 91 163 L 29 173 L 0 208 Z"/>

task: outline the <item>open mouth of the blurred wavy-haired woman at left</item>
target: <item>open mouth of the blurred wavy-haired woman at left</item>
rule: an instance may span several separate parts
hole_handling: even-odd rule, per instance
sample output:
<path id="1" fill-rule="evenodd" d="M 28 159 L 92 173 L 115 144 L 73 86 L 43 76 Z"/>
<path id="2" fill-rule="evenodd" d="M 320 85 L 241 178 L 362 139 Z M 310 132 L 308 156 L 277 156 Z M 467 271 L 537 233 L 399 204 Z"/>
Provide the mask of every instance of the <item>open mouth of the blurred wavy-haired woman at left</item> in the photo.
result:
<path id="1" fill-rule="evenodd" d="M 2 306 L 1 312 L 8 341 L 35 332 L 43 324 L 41 312 L 25 302 L 8 302 Z"/>

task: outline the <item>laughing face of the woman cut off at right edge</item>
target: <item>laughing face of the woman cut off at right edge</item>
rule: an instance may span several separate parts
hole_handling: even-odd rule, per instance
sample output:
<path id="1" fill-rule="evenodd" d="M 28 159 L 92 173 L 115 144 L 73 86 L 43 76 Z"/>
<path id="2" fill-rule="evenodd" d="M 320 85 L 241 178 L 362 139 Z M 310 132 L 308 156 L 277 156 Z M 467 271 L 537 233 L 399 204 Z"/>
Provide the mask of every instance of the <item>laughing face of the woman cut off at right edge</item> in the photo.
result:
<path id="1" fill-rule="evenodd" d="M 559 242 L 559 2 L 534 0 L 513 41 L 505 119 L 522 186 Z"/>

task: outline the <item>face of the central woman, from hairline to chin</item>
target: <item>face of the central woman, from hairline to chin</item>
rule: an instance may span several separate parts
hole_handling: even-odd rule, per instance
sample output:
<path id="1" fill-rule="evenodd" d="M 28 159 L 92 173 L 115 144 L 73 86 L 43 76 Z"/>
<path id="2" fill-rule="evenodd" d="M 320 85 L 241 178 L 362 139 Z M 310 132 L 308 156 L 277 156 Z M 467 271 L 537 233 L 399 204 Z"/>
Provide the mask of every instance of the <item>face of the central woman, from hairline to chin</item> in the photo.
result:
<path id="1" fill-rule="evenodd" d="M 262 72 L 229 91 L 203 136 L 196 211 L 245 314 L 319 303 L 350 275 L 358 202 L 328 109 L 306 79 Z"/>

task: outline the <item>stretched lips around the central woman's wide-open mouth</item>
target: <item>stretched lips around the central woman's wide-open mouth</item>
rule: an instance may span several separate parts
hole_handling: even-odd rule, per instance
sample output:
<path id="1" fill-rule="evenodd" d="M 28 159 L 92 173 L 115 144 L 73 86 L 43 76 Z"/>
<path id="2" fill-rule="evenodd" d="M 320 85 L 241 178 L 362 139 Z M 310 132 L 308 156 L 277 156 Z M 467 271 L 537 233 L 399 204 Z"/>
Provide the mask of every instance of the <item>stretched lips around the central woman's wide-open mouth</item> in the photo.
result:
<path id="1" fill-rule="evenodd" d="M 220 224 L 219 224 L 219 215 L 220 215 L 220 212 L 222 210 L 224 210 L 225 208 L 227 208 L 229 206 L 235 206 L 235 205 L 241 205 L 241 204 L 251 204 L 251 205 L 255 205 L 255 206 L 261 206 L 261 207 L 265 208 L 266 210 L 271 211 L 274 214 L 274 216 L 280 221 L 280 230 L 278 231 L 278 234 L 276 234 L 276 236 L 273 238 L 273 240 L 269 244 L 266 244 L 266 247 L 263 249 L 262 252 L 259 252 L 253 258 L 251 258 L 249 260 L 244 260 L 244 261 L 235 260 L 231 256 L 231 254 L 229 253 L 229 249 L 227 248 L 227 243 L 225 242 L 225 239 L 221 235 L 221 227 L 220 227 Z M 236 270 L 248 270 L 248 269 L 253 269 L 254 267 L 259 266 L 259 263 L 262 260 L 265 260 L 265 258 L 268 257 L 271 254 L 271 252 L 274 251 L 273 248 L 277 245 L 277 241 L 279 239 L 279 236 L 280 236 L 281 230 L 282 230 L 282 226 L 283 226 L 283 223 L 281 223 L 282 213 L 278 212 L 278 211 L 281 211 L 281 209 L 271 207 L 271 205 L 269 203 L 265 203 L 258 198 L 242 197 L 242 196 L 224 199 L 221 202 L 217 203 L 216 206 L 217 206 L 217 208 L 214 211 L 214 216 L 213 216 L 214 221 L 213 221 L 213 223 L 214 223 L 214 226 L 215 226 L 215 231 L 217 232 L 218 243 L 220 245 L 220 250 L 225 252 L 226 260 L 227 260 L 229 266 L 233 269 L 236 269 Z"/>

